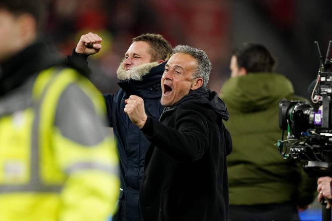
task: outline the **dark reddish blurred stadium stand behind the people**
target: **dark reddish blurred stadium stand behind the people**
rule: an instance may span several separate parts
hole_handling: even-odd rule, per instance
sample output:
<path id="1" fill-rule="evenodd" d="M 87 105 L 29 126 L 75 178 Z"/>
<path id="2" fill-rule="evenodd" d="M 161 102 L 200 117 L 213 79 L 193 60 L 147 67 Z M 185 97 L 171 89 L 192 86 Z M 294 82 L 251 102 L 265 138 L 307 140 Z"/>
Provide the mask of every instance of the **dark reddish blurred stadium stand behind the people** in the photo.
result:
<path id="1" fill-rule="evenodd" d="M 172 46 L 206 51 L 213 66 L 209 87 L 218 92 L 229 77 L 232 49 L 245 41 L 262 43 L 277 58 L 276 72 L 309 97 L 319 64 L 314 41 L 325 58 L 332 40 L 331 0 L 52 0 L 50 12 L 48 38 L 63 55 L 82 34 L 103 38 L 102 50 L 89 59 L 92 81 L 104 93 L 118 89 L 116 69 L 131 38 L 149 32 Z"/>

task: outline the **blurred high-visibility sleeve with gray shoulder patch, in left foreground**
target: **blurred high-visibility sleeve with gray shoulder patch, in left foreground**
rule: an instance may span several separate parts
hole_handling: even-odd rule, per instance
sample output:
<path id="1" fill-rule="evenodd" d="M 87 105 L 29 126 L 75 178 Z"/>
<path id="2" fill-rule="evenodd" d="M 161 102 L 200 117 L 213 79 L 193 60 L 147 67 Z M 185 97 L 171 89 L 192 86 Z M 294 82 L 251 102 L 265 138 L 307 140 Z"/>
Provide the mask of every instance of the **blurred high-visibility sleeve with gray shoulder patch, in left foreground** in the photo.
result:
<path id="1" fill-rule="evenodd" d="M 66 176 L 59 220 L 104 221 L 115 210 L 118 156 L 98 103 L 101 96 L 91 99 L 74 84 L 59 98 L 52 137 L 55 161 Z"/>

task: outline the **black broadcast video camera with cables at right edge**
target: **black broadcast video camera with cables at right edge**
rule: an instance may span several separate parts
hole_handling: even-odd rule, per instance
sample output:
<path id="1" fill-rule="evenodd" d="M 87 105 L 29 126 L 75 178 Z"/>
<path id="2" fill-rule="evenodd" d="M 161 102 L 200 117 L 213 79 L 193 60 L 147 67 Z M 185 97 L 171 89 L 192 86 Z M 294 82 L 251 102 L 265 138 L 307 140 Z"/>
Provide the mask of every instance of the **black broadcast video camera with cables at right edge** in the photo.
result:
<path id="1" fill-rule="evenodd" d="M 317 79 L 312 83 L 315 86 L 309 87 L 313 106 L 300 100 L 279 103 L 279 127 L 283 135 L 277 147 L 285 159 L 303 160 L 304 170 L 312 177 L 332 177 L 332 60 L 328 58 L 331 42 L 324 65 L 320 55 Z"/>

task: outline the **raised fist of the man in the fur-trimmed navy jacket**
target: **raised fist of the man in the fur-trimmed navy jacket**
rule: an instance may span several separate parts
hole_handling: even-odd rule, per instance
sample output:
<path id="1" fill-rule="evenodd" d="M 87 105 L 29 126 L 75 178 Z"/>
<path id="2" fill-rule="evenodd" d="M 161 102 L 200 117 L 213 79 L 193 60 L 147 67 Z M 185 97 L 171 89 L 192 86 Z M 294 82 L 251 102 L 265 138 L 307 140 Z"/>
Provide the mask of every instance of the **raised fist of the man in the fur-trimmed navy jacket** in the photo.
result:
<path id="1" fill-rule="evenodd" d="M 97 34 L 89 32 L 89 34 L 82 35 L 75 48 L 78 54 L 93 55 L 99 52 L 102 48 L 100 44 L 103 41 Z"/>

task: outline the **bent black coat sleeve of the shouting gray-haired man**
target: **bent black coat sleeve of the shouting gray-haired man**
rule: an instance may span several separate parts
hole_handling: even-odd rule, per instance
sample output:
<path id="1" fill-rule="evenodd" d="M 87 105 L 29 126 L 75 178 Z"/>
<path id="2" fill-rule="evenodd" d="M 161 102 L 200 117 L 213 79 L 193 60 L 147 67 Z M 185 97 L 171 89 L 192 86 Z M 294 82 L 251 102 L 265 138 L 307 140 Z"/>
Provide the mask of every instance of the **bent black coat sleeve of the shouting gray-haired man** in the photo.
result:
<path id="1" fill-rule="evenodd" d="M 179 161 L 195 161 L 209 147 L 206 118 L 193 109 L 177 111 L 175 128 L 148 117 L 142 128 L 145 137 L 157 148 Z"/>

